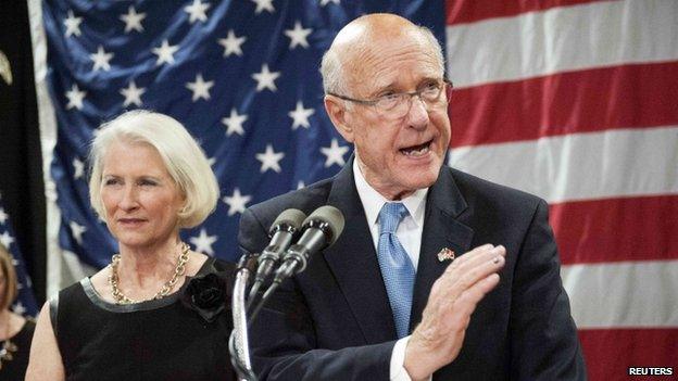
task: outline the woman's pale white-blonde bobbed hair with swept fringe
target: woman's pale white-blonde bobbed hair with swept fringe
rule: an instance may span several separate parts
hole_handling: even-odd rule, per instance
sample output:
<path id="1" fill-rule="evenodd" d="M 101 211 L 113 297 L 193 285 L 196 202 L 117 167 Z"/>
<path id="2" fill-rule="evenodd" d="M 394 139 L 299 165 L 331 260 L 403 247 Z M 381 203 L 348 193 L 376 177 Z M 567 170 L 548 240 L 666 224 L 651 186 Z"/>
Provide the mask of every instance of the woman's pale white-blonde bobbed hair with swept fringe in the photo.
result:
<path id="1" fill-rule="evenodd" d="M 186 128 L 171 116 L 143 110 L 126 112 L 101 125 L 89 153 L 89 201 L 105 220 L 101 200 L 103 158 L 113 142 L 149 144 L 160 154 L 170 176 L 186 198 L 179 227 L 192 228 L 216 208 L 218 183 L 210 163 Z"/>

